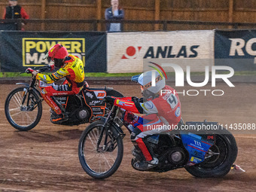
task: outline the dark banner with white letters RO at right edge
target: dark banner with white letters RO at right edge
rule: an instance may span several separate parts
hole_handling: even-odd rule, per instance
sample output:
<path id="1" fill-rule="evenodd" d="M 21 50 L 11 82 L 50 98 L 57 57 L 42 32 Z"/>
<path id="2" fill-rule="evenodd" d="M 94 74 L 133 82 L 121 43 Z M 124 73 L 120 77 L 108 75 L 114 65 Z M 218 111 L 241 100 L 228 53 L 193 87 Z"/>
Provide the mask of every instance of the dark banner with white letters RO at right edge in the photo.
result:
<path id="1" fill-rule="evenodd" d="M 215 66 L 235 71 L 256 70 L 256 30 L 215 32 Z"/>

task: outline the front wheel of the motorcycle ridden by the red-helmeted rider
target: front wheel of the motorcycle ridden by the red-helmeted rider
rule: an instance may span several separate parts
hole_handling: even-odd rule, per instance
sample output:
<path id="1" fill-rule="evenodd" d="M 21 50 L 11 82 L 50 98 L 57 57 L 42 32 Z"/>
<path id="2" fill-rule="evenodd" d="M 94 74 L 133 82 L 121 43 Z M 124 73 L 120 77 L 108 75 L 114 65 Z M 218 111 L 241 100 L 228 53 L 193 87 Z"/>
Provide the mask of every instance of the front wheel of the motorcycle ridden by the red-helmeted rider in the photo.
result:
<path id="1" fill-rule="evenodd" d="M 42 104 L 37 93 L 28 87 L 18 87 L 5 100 L 5 116 L 11 126 L 20 131 L 34 128 L 42 114 Z"/>

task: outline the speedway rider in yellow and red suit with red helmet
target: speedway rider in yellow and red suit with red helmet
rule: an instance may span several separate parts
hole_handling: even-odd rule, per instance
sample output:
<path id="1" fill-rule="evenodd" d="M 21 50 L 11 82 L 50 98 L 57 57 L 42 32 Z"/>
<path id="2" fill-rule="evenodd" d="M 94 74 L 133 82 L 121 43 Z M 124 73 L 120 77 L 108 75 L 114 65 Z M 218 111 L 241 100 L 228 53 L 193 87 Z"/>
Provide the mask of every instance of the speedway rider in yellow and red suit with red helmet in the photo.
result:
<path id="1" fill-rule="evenodd" d="M 41 96 L 56 113 L 51 120 L 53 122 L 62 122 L 67 120 L 65 108 L 56 102 L 53 96 L 75 95 L 81 91 L 85 84 L 84 64 L 77 56 L 69 54 L 66 47 L 63 47 L 62 44 L 56 44 L 51 47 L 45 57 L 48 57 L 49 61 L 51 59 L 54 62 L 54 67 L 59 70 L 51 75 L 44 75 L 32 69 L 27 70 L 32 72 L 32 75 L 36 75 L 38 80 L 44 81 L 47 84 L 53 83 L 60 78 L 66 78 L 65 83 L 62 85 L 49 86 L 41 90 Z"/>

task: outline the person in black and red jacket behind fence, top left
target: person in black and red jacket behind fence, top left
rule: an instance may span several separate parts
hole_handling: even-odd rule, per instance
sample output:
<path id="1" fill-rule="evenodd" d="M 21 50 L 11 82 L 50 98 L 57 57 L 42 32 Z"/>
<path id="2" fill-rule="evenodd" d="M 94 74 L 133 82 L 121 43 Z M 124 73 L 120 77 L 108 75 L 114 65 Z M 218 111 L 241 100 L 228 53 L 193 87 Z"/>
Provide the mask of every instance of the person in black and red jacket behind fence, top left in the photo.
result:
<path id="1" fill-rule="evenodd" d="M 26 13 L 25 9 L 18 5 L 17 0 L 9 0 L 9 5 L 5 8 L 3 19 L 24 19 L 28 20 L 29 15 Z M 24 30 L 24 23 L 21 23 L 21 30 Z"/>

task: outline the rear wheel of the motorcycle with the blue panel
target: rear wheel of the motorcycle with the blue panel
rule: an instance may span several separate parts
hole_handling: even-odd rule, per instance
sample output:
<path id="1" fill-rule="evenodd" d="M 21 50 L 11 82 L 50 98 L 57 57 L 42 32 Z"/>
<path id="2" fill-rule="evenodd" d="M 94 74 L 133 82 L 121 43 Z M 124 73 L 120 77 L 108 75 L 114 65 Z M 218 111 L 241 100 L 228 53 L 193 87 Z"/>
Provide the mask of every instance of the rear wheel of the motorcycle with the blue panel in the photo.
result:
<path id="1" fill-rule="evenodd" d="M 200 178 L 227 175 L 237 156 L 235 138 L 227 130 L 218 130 L 215 134 L 215 145 L 209 148 L 207 154 L 203 163 L 187 166 L 187 172 Z"/>

